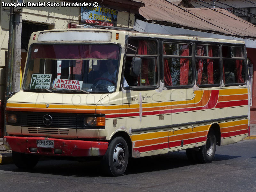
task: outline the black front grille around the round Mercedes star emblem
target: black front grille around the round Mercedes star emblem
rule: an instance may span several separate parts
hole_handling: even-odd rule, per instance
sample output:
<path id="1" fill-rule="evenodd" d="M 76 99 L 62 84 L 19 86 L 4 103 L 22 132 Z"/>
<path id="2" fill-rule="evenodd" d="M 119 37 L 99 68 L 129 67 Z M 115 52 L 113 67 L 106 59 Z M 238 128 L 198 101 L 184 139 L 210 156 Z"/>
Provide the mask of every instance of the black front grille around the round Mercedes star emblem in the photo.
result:
<path id="1" fill-rule="evenodd" d="M 84 125 L 84 118 L 86 116 L 104 116 L 100 114 L 82 114 L 82 113 L 46 113 L 46 112 L 26 112 L 26 111 L 8 111 L 7 113 L 16 114 L 17 122 L 9 123 L 8 125 L 23 126 L 23 127 L 51 127 L 51 128 L 68 128 L 68 129 L 104 129 L 105 127 L 89 127 Z M 44 115 L 52 117 L 52 124 L 46 126 L 43 123 Z M 45 129 L 30 130 L 31 133 L 46 133 Z M 54 131 L 53 131 L 54 132 Z M 58 132 L 58 129 L 55 130 Z M 51 129 L 52 133 L 52 129 Z M 54 133 L 53 133 L 54 134 Z M 56 133 L 58 134 L 58 133 Z M 64 133 L 61 133 L 64 134 Z"/>

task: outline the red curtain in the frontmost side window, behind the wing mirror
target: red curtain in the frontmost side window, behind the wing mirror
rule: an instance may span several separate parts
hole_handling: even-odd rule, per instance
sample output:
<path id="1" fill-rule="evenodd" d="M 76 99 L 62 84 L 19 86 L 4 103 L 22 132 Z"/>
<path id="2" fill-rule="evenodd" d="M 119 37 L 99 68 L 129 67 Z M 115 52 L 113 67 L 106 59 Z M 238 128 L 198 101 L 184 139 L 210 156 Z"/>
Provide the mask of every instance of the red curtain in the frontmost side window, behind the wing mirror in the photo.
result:
<path id="1" fill-rule="evenodd" d="M 139 41 L 138 47 L 138 54 L 139 55 L 147 55 L 147 41 Z M 141 66 L 141 79 L 145 79 L 145 86 L 149 86 L 148 80 L 148 62 L 147 59 L 142 59 L 142 66 Z M 138 82 L 140 81 L 140 77 L 138 77 Z"/>

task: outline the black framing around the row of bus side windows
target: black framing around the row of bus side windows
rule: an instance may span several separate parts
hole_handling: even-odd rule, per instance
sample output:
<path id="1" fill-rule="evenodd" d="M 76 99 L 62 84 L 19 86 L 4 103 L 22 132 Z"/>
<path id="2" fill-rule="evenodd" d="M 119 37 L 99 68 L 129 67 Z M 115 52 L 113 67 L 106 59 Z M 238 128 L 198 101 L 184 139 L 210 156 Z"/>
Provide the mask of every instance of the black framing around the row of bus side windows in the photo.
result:
<path id="1" fill-rule="evenodd" d="M 166 38 L 150 38 L 150 37 L 134 37 L 134 36 L 128 36 L 126 35 L 125 43 L 128 43 L 128 38 L 132 39 L 140 39 L 140 40 L 155 40 L 157 42 L 157 55 L 150 55 L 150 56 L 157 56 L 157 67 L 158 67 L 158 84 L 157 86 L 140 86 L 140 87 L 123 87 L 123 76 L 124 76 L 124 68 L 125 68 L 125 60 L 126 60 L 126 53 L 124 54 L 124 61 L 123 61 L 123 69 L 122 69 L 122 76 L 121 76 L 121 84 L 120 84 L 120 91 L 122 88 L 124 90 L 152 90 L 159 88 L 160 83 L 164 83 L 164 86 L 167 89 L 186 89 L 186 88 L 193 88 L 196 83 L 196 59 L 197 58 L 204 58 L 204 59 L 219 59 L 219 67 L 220 67 L 220 83 L 219 84 L 204 84 L 204 85 L 197 85 L 199 88 L 207 88 L 207 87 L 230 87 L 230 86 L 239 86 L 239 85 L 246 85 L 248 82 L 248 61 L 247 61 L 247 52 L 245 44 L 236 44 L 236 43 L 227 43 L 227 42 L 209 42 L 209 41 L 197 41 L 197 40 L 180 40 L 180 39 L 166 39 Z M 192 45 L 192 52 L 191 56 L 189 57 L 182 57 L 178 55 L 168 55 L 169 58 L 192 58 L 192 81 L 193 83 L 191 85 L 174 85 L 174 86 L 166 86 L 164 82 L 164 58 L 168 58 L 168 56 L 163 54 L 163 46 L 164 43 L 175 43 L 175 44 L 191 44 Z M 202 45 L 212 45 L 212 46 L 218 46 L 219 47 L 219 57 L 208 57 L 208 56 L 196 56 L 195 55 L 195 46 L 196 44 L 202 44 Z M 244 83 L 235 83 L 235 84 L 224 84 L 224 78 L 223 76 L 223 60 L 224 59 L 240 59 L 240 57 L 232 57 L 232 58 L 223 58 L 222 57 L 222 46 L 238 46 L 242 47 L 244 58 L 241 58 L 245 62 L 245 82 Z M 208 53 L 207 53 L 208 54 Z M 161 62 L 161 63 L 160 63 Z"/>

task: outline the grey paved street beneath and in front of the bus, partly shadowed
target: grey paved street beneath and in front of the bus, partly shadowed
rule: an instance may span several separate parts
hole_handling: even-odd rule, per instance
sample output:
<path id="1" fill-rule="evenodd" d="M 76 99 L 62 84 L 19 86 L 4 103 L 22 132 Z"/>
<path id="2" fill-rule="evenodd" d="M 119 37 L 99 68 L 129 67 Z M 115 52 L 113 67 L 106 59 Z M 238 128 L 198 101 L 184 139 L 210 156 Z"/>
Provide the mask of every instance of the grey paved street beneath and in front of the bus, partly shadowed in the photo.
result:
<path id="1" fill-rule="evenodd" d="M 0 165 L 0 186 L 12 191 L 256 191 L 256 140 L 218 147 L 214 162 L 190 164 L 184 151 L 130 161 L 121 177 L 99 162 L 40 161 L 32 171 Z"/>

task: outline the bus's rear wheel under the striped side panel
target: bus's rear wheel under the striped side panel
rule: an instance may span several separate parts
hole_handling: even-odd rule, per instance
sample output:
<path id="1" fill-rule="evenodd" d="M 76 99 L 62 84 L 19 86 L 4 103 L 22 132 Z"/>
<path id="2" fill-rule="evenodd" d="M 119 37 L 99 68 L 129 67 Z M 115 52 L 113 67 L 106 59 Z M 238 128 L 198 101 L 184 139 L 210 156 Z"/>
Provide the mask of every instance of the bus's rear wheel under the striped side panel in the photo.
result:
<path id="1" fill-rule="evenodd" d="M 206 145 L 202 146 L 196 152 L 197 159 L 200 163 L 211 163 L 214 159 L 216 152 L 216 136 L 215 132 L 211 129 L 207 135 Z"/>

